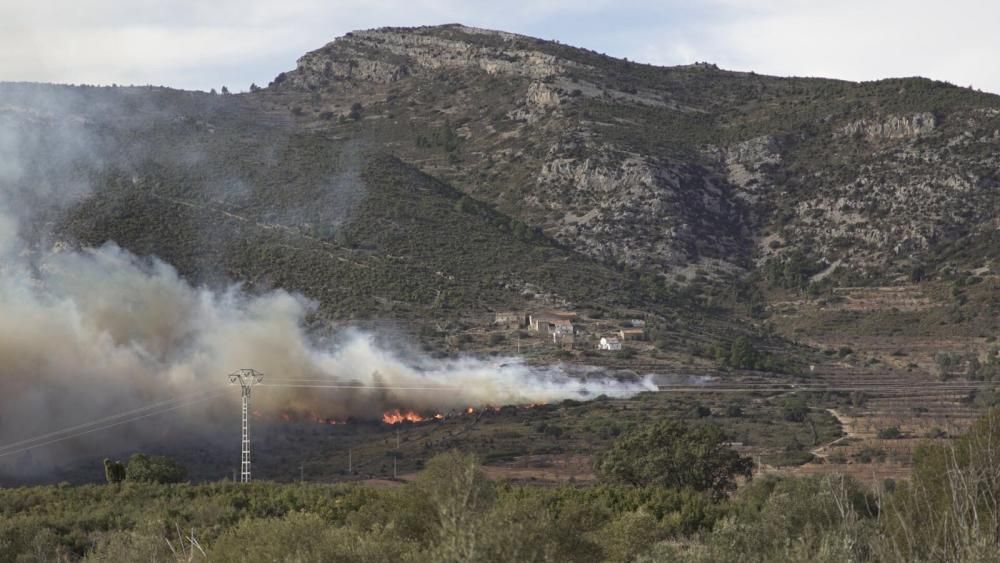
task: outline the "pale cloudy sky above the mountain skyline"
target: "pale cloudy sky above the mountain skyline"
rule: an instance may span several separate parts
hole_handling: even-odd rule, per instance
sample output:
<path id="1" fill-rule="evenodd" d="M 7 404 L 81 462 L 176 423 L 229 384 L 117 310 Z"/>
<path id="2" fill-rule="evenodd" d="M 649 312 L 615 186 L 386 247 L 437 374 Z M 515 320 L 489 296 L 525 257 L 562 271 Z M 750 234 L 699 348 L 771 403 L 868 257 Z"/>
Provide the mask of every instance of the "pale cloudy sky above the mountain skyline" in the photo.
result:
<path id="1" fill-rule="evenodd" d="M 0 0 L 0 81 L 243 91 L 348 31 L 455 22 L 658 65 L 1000 93 L 986 0 Z"/>

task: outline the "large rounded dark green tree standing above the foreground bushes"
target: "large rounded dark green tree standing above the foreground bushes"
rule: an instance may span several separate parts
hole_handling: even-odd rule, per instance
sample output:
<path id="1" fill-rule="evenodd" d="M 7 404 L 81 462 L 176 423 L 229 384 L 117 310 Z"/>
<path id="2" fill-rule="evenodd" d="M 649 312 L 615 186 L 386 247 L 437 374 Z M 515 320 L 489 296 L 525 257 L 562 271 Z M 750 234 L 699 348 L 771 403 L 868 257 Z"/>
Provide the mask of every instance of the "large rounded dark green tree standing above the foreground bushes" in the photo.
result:
<path id="1" fill-rule="evenodd" d="M 715 425 L 689 427 L 664 420 L 639 427 L 598 456 L 595 469 L 607 482 L 692 488 L 721 497 L 750 478 L 753 461 L 725 444 Z"/>

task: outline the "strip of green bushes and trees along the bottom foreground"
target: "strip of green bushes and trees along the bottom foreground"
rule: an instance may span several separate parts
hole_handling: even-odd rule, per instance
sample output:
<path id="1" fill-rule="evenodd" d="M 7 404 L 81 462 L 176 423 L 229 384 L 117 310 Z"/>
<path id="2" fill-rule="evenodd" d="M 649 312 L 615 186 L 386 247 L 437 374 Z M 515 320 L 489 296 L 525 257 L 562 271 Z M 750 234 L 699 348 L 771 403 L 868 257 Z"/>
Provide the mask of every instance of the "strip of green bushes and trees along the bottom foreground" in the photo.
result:
<path id="1" fill-rule="evenodd" d="M 872 490 L 771 475 L 723 494 L 744 462 L 718 433 L 676 422 L 623 435 L 591 486 L 494 483 L 453 451 L 386 488 L 4 489 L 0 560 L 988 561 L 1000 542 L 998 431 L 993 411 L 957 442 L 922 447 L 911 480 Z"/>

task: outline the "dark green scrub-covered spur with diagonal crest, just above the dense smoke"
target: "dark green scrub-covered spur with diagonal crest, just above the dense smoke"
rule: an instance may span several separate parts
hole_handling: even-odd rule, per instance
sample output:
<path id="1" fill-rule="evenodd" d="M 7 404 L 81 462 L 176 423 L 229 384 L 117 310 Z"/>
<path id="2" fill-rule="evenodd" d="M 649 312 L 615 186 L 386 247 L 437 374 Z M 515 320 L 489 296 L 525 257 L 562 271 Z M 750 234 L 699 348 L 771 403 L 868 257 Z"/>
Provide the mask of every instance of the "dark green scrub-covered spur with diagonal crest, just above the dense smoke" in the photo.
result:
<path id="1" fill-rule="evenodd" d="M 316 196 L 296 194 L 294 184 L 261 190 L 262 201 L 224 206 L 164 170 L 138 185 L 109 178 L 73 210 L 65 232 L 89 245 L 127 241 L 129 250 L 158 256 L 196 282 L 300 291 L 333 319 L 485 312 L 525 302 L 525 284 L 607 306 L 642 299 L 628 278 L 397 159 L 356 158 L 362 162 L 350 181 L 359 194 L 340 223 L 310 216 L 329 207 L 293 207 Z M 187 193 L 177 193 L 182 187 Z M 284 222 L 285 213 L 303 217 Z"/>

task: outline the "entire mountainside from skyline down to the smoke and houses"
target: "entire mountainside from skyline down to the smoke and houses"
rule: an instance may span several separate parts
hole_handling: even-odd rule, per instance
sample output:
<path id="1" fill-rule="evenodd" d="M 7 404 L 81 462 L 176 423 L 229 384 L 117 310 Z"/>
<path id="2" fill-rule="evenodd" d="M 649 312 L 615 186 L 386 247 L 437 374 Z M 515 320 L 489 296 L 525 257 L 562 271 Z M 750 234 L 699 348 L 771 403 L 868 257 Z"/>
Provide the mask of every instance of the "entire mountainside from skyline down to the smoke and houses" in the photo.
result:
<path id="1" fill-rule="evenodd" d="M 8 191 L 57 202 L 37 240 L 115 240 L 335 319 L 665 313 L 995 272 L 1000 248 L 1000 97 L 919 78 L 446 25 L 347 34 L 241 95 L 6 84 L 0 119 L 30 163 Z"/>

